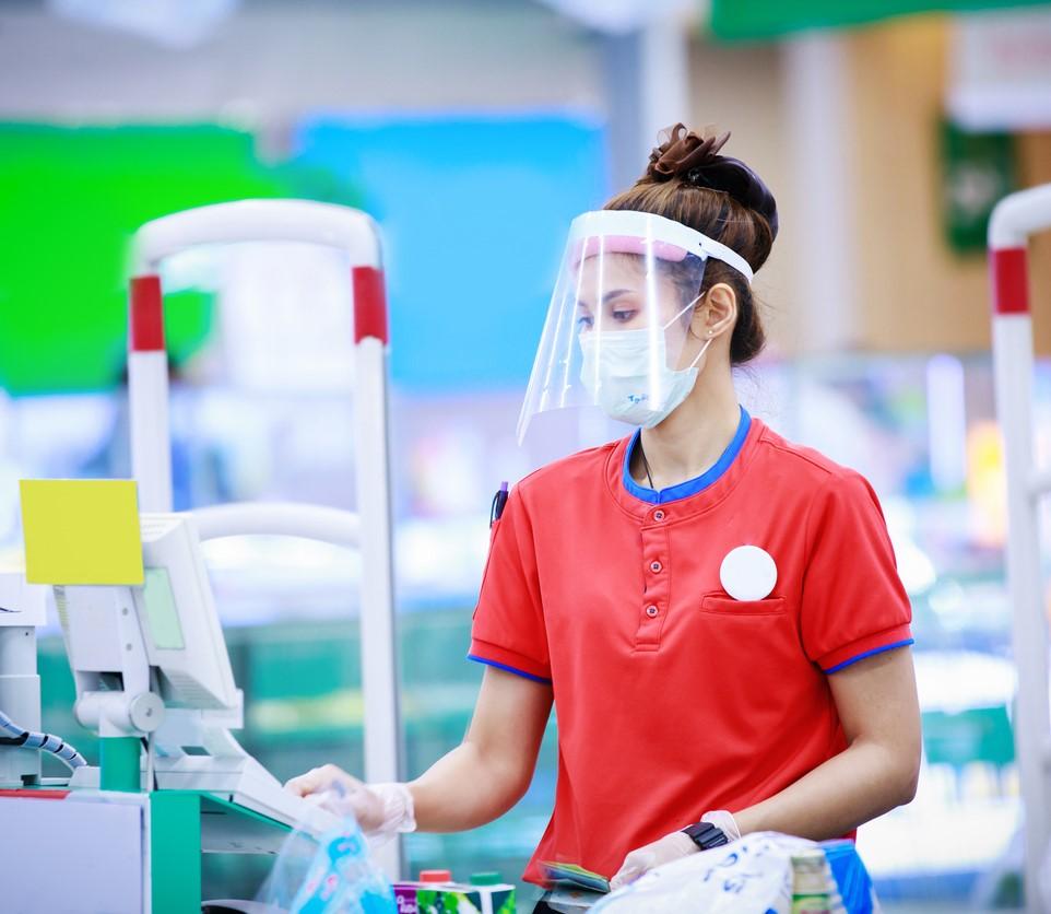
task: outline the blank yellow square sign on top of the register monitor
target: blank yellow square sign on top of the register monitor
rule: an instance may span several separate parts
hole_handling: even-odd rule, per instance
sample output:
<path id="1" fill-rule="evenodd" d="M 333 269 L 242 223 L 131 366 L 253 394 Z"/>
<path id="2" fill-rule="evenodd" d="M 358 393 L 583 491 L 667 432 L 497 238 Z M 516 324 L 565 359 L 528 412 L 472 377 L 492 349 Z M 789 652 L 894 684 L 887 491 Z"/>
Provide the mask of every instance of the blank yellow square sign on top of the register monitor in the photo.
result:
<path id="1" fill-rule="evenodd" d="M 31 584 L 142 584 L 139 495 L 129 479 L 23 479 Z"/>

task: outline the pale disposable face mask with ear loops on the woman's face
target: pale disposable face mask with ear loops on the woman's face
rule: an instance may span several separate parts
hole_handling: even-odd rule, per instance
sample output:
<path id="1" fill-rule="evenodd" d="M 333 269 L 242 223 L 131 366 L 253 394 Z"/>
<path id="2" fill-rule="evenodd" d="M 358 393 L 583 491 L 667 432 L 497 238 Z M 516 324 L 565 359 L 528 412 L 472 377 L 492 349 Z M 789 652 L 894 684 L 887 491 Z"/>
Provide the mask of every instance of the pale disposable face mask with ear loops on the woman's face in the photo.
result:
<path id="1" fill-rule="evenodd" d="M 697 363 L 708 351 L 711 340 L 705 342 L 687 367 L 676 371 L 668 367 L 664 330 L 692 308 L 697 298 L 661 328 L 657 335 L 656 353 L 651 353 L 650 330 L 647 328 L 604 330 L 578 337 L 583 355 L 580 380 L 611 419 L 652 429 L 663 422 L 694 389 Z M 654 363 L 659 372 L 656 378 L 652 375 Z"/>

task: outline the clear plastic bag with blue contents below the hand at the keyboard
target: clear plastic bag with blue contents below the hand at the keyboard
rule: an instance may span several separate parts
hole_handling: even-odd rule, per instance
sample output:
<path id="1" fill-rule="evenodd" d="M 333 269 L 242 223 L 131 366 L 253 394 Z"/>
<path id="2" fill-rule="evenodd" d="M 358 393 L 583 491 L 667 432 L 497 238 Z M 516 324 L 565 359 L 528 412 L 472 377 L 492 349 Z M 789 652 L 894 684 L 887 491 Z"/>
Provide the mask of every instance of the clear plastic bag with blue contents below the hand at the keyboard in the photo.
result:
<path id="1" fill-rule="evenodd" d="M 256 900 L 288 914 L 394 914 L 394 890 L 353 817 L 320 837 L 296 830 Z"/>

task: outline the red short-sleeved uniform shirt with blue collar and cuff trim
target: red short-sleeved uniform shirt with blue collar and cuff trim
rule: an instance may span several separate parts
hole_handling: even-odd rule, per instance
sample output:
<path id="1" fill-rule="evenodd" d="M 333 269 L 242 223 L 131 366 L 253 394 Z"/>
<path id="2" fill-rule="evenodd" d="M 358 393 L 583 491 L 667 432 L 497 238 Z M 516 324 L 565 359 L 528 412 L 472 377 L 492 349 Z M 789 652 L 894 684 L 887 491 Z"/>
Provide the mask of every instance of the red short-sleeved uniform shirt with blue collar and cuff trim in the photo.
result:
<path id="1" fill-rule="evenodd" d="M 711 809 L 740 811 L 847 747 L 827 673 L 911 644 L 911 609 L 867 482 L 742 410 L 698 479 L 654 492 L 635 438 L 523 479 L 493 529 L 471 658 L 550 681 L 555 808 L 524 878 L 557 859 L 613 876 Z M 730 597 L 752 544 L 774 591 Z"/>

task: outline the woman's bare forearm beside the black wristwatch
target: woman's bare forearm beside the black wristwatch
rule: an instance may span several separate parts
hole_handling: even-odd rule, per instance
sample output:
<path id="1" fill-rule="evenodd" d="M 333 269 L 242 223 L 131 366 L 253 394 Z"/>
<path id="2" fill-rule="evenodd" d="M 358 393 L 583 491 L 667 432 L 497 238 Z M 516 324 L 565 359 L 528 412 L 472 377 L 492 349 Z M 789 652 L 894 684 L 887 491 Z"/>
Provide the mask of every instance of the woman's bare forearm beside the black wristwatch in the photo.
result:
<path id="1" fill-rule="evenodd" d="M 731 811 L 742 834 L 778 831 L 825 841 L 910 802 L 914 795 L 916 769 L 908 753 L 858 741 L 781 793 Z"/>

